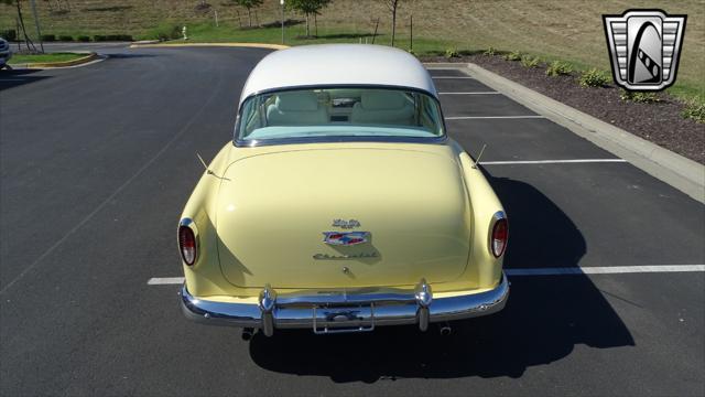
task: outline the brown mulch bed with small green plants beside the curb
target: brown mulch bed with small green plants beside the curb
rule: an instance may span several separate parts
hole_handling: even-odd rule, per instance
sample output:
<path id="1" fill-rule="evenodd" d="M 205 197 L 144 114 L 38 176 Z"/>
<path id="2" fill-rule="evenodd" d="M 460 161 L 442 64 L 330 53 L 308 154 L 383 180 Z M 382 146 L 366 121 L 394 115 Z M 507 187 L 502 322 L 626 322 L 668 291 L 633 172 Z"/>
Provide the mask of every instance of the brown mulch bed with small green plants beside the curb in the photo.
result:
<path id="1" fill-rule="evenodd" d="M 659 103 L 640 104 L 619 98 L 621 89 L 615 85 L 584 88 L 577 74 L 551 77 L 545 65 L 527 68 L 520 62 L 506 61 L 500 55 L 468 55 L 447 60 L 442 56 L 422 58 L 423 62 L 474 63 L 525 87 L 560 100 L 581 111 L 610 122 L 658 146 L 705 164 L 705 125 L 681 117 L 685 107 L 672 96 L 660 93 Z"/>

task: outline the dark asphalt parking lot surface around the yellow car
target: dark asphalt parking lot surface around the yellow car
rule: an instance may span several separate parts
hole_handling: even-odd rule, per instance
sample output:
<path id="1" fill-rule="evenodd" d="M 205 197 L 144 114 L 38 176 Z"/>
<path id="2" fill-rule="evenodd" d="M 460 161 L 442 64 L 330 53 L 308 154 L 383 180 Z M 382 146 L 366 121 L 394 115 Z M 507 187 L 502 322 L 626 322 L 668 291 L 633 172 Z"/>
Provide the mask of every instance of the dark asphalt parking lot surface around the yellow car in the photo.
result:
<path id="1" fill-rule="evenodd" d="M 178 286 L 148 280 L 182 276 L 195 152 L 230 139 L 269 51 L 106 52 L 0 72 L 0 394 L 705 394 L 705 272 L 668 271 L 705 264 L 705 206 L 449 69 L 431 71 L 449 135 L 487 144 L 511 223 L 503 312 L 451 336 L 187 322 Z"/>

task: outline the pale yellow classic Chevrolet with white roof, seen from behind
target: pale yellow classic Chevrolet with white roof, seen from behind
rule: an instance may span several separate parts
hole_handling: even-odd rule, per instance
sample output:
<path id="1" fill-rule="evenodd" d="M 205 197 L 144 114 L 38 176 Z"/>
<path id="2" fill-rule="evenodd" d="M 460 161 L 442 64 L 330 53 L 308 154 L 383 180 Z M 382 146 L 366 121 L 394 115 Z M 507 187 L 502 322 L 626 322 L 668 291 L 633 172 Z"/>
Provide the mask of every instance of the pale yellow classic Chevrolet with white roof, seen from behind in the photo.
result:
<path id="1" fill-rule="evenodd" d="M 425 331 L 509 294 L 502 205 L 446 135 L 429 72 L 387 46 L 265 56 L 177 235 L 184 314 L 245 339 Z"/>

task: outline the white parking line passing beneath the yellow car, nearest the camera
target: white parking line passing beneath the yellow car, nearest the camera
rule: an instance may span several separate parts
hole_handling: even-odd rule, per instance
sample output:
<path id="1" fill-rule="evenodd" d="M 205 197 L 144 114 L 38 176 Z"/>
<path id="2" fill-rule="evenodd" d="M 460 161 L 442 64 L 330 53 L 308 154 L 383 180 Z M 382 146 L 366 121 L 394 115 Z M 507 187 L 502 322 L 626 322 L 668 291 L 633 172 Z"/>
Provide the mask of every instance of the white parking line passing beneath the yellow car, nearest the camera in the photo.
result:
<path id="1" fill-rule="evenodd" d="M 505 269 L 507 276 L 573 276 L 573 275 L 625 275 L 649 272 L 703 272 L 705 265 L 646 265 L 646 266 L 585 266 L 567 268 Z M 183 277 L 154 277 L 148 286 L 182 285 Z"/>

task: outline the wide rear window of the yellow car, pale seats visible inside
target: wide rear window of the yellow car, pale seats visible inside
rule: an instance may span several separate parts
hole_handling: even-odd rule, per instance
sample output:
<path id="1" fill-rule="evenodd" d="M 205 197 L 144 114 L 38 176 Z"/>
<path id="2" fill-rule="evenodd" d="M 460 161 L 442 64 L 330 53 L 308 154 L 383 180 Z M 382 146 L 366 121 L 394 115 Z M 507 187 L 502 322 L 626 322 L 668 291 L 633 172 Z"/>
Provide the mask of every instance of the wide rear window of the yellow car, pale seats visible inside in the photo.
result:
<path id="1" fill-rule="evenodd" d="M 424 93 L 377 87 L 270 92 L 241 106 L 236 140 L 444 135 L 438 101 Z"/>

